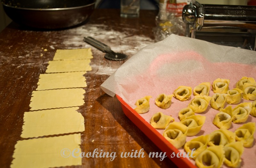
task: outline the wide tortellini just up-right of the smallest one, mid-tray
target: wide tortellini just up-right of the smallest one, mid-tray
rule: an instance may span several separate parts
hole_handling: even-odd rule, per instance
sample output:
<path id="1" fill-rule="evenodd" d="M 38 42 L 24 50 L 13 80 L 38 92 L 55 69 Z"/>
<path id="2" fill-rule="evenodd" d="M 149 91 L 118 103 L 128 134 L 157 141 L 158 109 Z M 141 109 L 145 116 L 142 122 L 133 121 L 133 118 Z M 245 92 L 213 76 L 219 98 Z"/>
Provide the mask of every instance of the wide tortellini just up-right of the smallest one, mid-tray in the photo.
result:
<path id="1" fill-rule="evenodd" d="M 195 96 L 188 104 L 195 113 L 203 113 L 206 111 L 208 104 L 212 98 L 210 96 Z"/>

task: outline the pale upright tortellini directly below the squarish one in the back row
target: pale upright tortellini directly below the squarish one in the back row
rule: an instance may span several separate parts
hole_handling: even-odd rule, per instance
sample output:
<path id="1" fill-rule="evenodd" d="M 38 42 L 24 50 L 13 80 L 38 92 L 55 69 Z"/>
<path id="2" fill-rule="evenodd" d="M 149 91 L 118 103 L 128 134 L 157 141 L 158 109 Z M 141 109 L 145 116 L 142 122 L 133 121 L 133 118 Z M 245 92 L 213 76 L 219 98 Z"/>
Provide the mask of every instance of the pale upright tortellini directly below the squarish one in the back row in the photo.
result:
<path id="1" fill-rule="evenodd" d="M 214 93 L 212 95 L 212 99 L 210 100 L 210 105 L 215 110 L 220 110 L 221 108 L 224 108 L 226 103 L 226 96 L 225 93 Z"/>

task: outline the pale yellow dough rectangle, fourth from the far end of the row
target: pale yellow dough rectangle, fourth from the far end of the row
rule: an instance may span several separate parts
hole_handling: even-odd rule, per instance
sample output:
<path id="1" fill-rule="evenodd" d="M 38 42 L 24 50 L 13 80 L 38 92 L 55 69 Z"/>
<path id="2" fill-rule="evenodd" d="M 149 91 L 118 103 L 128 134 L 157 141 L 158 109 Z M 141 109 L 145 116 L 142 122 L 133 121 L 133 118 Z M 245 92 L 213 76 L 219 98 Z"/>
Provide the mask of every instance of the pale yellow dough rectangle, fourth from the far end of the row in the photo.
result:
<path id="1" fill-rule="evenodd" d="M 30 110 L 82 106 L 84 93 L 82 88 L 33 91 Z"/>

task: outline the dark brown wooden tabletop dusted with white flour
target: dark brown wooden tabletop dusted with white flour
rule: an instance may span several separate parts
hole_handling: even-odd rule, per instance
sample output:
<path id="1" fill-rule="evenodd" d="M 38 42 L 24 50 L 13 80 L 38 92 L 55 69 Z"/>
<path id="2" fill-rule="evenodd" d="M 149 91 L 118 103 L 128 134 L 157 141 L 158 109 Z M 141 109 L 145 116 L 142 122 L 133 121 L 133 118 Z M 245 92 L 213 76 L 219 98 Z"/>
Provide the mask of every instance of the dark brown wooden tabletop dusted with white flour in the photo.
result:
<path id="1" fill-rule="evenodd" d="M 97 9 L 86 24 L 59 31 L 31 31 L 11 23 L 0 33 L 1 167 L 10 167 L 14 145 L 22 140 L 23 115 L 30 110 L 31 93 L 36 90 L 39 74 L 45 73 L 56 49 L 92 47 L 83 42 L 84 36 L 92 35 L 131 57 L 143 44 L 154 42 L 152 29 L 157 11 L 140 11 L 140 17 L 133 19 L 120 18 L 119 13 L 114 9 Z M 132 40 L 133 37 L 137 41 Z M 121 152 L 143 149 L 146 157 L 116 157 L 113 161 L 84 157 L 82 166 L 71 167 L 176 167 L 168 158 L 160 161 L 148 157 L 149 152 L 161 151 L 124 115 L 116 97 L 100 89 L 124 61 L 106 60 L 104 53 L 94 47 L 92 54 L 92 71 L 84 75 L 88 85 L 84 88 L 85 102 L 78 110 L 85 119 L 82 151 L 93 152 L 98 148 L 120 156 Z"/>

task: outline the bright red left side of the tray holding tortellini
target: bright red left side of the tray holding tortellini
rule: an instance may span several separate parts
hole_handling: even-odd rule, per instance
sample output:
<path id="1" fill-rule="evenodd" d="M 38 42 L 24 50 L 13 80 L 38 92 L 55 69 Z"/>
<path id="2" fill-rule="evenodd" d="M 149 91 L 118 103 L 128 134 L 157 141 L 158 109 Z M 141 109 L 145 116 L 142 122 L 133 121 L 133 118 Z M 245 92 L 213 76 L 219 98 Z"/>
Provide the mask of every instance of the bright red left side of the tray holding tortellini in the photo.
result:
<path id="1" fill-rule="evenodd" d="M 121 102 L 121 106 L 124 114 L 138 127 L 140 130 L 148 136 L 148 138 L 160 148 L 163 152 L 166 152 L 167 156 L 171 156 L 175 152 L 175 156 L 180 152 L 170 142 L 168 142 L 163 135 L 161 135 L 155 128 L 153 128 L 143 117 L 140 116 L 135 110 L 132 109 L 124 100 L 116 95 L 116 98 Z M 184 168 L 197 168 L 192 164 L 187 157 L 168 157 L 178 167 Z"/>

